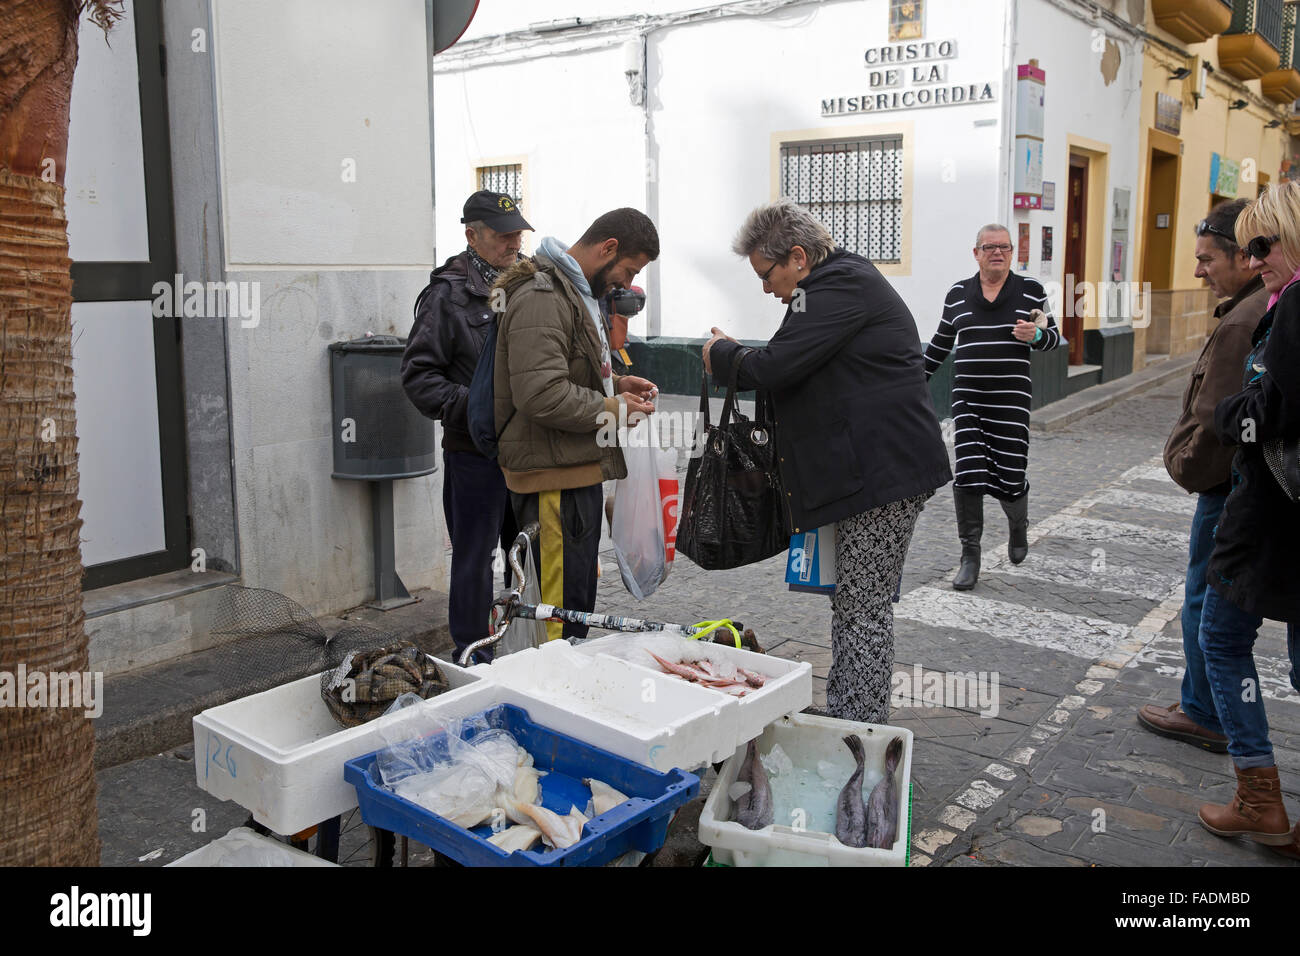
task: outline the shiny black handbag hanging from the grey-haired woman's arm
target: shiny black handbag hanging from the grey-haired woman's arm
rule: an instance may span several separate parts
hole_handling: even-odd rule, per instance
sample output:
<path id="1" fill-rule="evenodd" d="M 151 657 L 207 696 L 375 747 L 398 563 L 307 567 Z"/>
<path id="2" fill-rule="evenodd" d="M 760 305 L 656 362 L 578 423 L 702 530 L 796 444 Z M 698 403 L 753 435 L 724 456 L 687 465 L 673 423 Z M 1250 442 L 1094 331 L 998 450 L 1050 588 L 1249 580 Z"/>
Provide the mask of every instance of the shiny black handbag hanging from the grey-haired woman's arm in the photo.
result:
<path id="1" fill-rule="evenodd" d="M 766 393 L 754 420 L 736 407 L 732 365 L 722 420 L 708 421 L 708 376 L 699 385 L 703 449 L 690 459 L 681 494 L 677 550 L 699 567 L 744 567 L 780 554 L 790 544 L 789 507 L 776 467 L 776 423 Z"/>

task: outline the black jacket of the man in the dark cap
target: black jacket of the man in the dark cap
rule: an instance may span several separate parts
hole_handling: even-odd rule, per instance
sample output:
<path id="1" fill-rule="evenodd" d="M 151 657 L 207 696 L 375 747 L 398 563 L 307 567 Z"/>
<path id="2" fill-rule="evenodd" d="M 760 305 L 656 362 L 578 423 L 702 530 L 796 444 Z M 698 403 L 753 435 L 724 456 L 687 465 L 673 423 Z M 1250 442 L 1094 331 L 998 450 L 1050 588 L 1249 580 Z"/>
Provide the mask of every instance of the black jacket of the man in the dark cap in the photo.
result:
<path id="1" fill-rule="evenodd" d="M 465 399 L 478 354 L 494 320 L 489 286 L 469 263 L 451 256 L 429 274 L 415 306 L 402 356 L 402 386 L 424 415 L 442 421 L 442 447 L 478 454 L 465 423 Z"/>

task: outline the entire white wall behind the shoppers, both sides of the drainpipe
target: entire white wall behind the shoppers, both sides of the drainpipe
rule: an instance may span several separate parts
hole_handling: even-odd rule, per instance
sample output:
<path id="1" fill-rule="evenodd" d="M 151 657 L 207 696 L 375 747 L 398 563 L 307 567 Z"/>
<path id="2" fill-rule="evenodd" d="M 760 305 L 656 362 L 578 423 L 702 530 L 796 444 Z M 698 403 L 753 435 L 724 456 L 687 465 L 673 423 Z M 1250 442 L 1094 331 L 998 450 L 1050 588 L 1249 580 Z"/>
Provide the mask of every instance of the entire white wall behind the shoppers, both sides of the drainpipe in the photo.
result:
<path id="1" fill-rule="evenodd" d="M 654 4 L 624 5 L 627 10 L 592 7 L 599 7 L 601 16 L 664 12 Z M 512 17 L 486 17 L 485 9 L 467 39 L 584 16 L 578 7 L 538 3 L 519 12 L 512 5 Z M 720 325 L 741 338 L 767 338 L 784 310 L 763 297 L 751 269 L 729 246 L 749 209 L 776 193 L 772 134 L 824 129 L 835 138 L 864 124 L 904 122 L 910 125 L 913 153 L 911 269 L 890 281 L 927 338 L 939 324 L 944 291 L 974 272 L 966 233 L 998 217 L 1001 117 L 1009 91 L 1004 0 L 931 0 L 926 17 L 927 40 L 958 42 L 949 83 L 992 82 L 996 101 L 823 117 L 824 98 L 867 91 L 863 53 L 889 42 L 887 0 L 809 4 L 651 33 L 649 113 L 656 155 L 650 172 L 658 177 L 656 190 L 646 182 L 645 114 L 629 103 L 618 43 L 441 70 L 438 255 L 463 246 L 460 203 L 474 187 L 474 165 L 523 157 L 524 212 L 538 234 L 572 239 L 595 215 L 616 206 L 651 212 L 662 255 L 641 285 L 655 294 L 658 273 L 659 334 L 706 337 L 711 325 Z M 959 235 L 954 224 L 963 226 Z M 645 319 L 633 320 L 630 330 L 645 334 Z"/>

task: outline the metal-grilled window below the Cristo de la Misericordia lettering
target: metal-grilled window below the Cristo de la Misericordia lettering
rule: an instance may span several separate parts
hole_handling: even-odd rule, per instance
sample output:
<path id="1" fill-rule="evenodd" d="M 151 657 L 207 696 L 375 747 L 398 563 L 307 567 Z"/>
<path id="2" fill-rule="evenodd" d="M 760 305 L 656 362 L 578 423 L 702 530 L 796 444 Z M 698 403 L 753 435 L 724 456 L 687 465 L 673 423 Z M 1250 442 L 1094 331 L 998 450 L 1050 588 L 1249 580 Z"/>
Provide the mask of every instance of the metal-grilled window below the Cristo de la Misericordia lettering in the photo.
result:
<path id="1" fill-rule="evenodd" d="M 781 195 L 835 241 L 876 263 L 902 260 L 902 137 L 781 144 Z"/>

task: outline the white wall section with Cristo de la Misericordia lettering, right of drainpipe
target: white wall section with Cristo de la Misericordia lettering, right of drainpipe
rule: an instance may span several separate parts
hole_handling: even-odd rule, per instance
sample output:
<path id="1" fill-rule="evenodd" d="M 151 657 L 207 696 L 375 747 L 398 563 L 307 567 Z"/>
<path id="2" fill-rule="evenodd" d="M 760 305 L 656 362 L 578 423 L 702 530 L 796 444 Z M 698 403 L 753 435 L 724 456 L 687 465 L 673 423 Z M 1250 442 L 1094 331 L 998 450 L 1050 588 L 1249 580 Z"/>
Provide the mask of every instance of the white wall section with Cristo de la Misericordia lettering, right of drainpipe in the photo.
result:
<path id="1" fill-rule="evenodd" d="M 998 217 L 1001 117 L 1011 92 L 1005 9 L 1001 0 L 926 4 L 923 40 L 956 44 L 956 56 L 942 61 L 945 85 L 991 83 L 996 91 L 992 101 L 950 107 L 823 113 L 828 100 L 920 88 L 906 69 L 898 87 L 871 86 L 879 66 L 868 65 L 867 51 L 892 46 L 887 0 L 655 34 L 662 334 L 701 338 L 720 325 L 741 339 L 770 338 L 784 310 L 731 242 L 750 209 L 781 194 L 781 144 L 902 135 L 904 263 L 881 271 L 910 307 L 918 337 L 928 338 L 949 285 L 975 269 L 975 230 Z"/>

